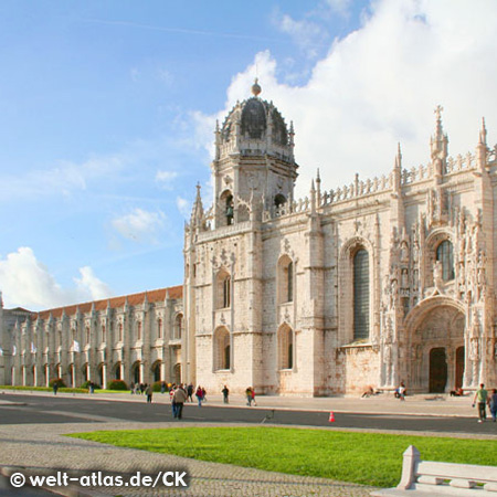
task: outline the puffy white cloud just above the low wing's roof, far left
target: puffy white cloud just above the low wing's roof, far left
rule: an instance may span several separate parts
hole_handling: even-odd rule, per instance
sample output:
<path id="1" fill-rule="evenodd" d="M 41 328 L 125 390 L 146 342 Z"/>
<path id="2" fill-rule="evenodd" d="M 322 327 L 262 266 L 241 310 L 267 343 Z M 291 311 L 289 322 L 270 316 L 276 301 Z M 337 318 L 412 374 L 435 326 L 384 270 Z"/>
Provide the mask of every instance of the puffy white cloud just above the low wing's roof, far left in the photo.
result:
<path id="1" fill-rule="evenodd" d="M 74 288 L 63 288 L 49 268 L 38 261 L 31 247 L 20 247 L 0 258 L 0 289 L 4 306 L 39 310 L 112 295 L 89 266 L 82 267 L 80 273 L 82 277 L 75 279 Z"/>

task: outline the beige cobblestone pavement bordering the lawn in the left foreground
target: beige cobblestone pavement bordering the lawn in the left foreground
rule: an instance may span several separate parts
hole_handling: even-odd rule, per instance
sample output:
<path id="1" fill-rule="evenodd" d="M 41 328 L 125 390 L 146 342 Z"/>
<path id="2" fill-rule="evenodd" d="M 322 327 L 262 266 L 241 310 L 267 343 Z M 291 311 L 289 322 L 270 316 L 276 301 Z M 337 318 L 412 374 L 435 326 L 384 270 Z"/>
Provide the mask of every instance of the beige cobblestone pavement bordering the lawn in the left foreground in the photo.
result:
<path id="1" fill-rule="evenodd" d="M 107 495 L 148 496 L 166 495 L 181 497 L 366 497 L 372 487 L 332 482 L 325 478 L 284 475 L 281 473 L 243 468 L 228 464 L 205 463 L 172 455 L 114 447 L 96 442 L 63 436 L 65 433 L 95 430 L 139 430 L 151 427 L 181 427 L 180 423 L 81 423 L 51 425 L 10 425 L 0 427 L 0 462 L 7 466 L 43 468 L 88 468 L 117 474 L 141 470 L 156 474 L 158 470 L 187 469 L 191 476 L 188 489 L 169 490 L 158 487 L 130 489 L 129 487 L 104 488 Z M 34 470 L 33 470 L 34 473 Z"/>

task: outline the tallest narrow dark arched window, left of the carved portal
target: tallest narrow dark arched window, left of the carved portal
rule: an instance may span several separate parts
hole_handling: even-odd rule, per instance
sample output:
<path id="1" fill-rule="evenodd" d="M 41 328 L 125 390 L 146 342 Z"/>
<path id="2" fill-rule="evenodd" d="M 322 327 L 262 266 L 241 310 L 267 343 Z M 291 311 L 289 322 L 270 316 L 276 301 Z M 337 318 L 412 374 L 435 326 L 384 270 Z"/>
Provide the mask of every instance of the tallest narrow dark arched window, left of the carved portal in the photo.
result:
<path id="1" fill-rule="evenodd" d="M 369 254 L 360 248 L 353 255 L 353 339 L 369 338 Z"/>

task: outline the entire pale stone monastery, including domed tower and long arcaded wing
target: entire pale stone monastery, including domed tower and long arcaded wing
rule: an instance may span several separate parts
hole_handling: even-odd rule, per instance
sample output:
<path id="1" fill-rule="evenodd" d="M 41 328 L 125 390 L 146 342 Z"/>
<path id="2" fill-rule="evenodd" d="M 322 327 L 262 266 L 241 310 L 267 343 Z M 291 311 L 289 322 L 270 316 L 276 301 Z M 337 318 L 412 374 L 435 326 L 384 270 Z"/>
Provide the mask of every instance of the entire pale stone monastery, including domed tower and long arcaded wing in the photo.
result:
<path id="1" fill-rule="evenodd" d="M 318 172 L 296 200 L 293 126 L 260 93 L 216 126 L 214 203 L 205 210 L 198 187 L 182 287 L 2 309 L 0 382 L 181 380 L 286 395 L 497 385 L 485 124 L 475 154 L 452 158 L 438 107 L 426 166 L 403 168 L 399 147 L 388 176 L 326 190 Z"/>

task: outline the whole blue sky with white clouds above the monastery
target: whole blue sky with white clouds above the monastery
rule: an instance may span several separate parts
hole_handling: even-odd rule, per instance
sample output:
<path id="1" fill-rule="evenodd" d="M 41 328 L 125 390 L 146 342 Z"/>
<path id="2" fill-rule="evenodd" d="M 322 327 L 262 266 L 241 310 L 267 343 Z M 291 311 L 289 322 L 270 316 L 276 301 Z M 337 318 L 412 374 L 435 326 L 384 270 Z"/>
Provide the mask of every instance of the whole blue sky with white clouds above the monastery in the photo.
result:
<path id="1" fill-rule="evenodd" d="M 296 197 L 497 141 L 495 0 L 2 0 L 0 290 L 41 310 L 183 282 L 215 120 L 273 101 Z"/>

